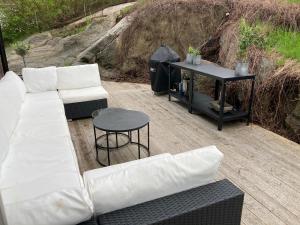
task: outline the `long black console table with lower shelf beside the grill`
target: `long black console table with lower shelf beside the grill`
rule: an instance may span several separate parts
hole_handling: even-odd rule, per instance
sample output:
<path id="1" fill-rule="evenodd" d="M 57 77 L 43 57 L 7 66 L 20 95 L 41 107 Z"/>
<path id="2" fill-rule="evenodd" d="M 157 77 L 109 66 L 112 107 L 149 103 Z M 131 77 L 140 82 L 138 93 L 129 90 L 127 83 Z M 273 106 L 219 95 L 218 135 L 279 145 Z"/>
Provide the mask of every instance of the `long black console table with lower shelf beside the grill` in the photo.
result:
<path id="1" fill-rule="evenodd" d="M 171 88 L 171 67 L 176 67 L 179 69 L 187 70 L 191 72 L 190 81 L 189 81 L 189 95 L 182 96 L 178 91 L 173 91 Z M 214 100 L 219 99 L 219 92 L 221 87 L 221 98 L 220 98 L 220 111 L 216 112 L 210 106 L 210 102 L 213 101 L 213 98 L 205 94 L 194 91 L 194 77 L 195 75 L 206 76 L 214 79 L 215 82 L 215 96 Z M 248 103 L 248 110 L 236 111 L 232 110 L 229 112 L 224 112 L 225 105 L 225 92 L 226 92 L 226 83 L 229 81 L 239 81 L 239 80 L 252 80 L 251 87 L 251 96 Z M 237 75 L 234 70 L 223 68 L 214 63 L 208 61 L 202 61 L 200 65 L 187 64 L 185 62 L 174 62 L 169 63 L 169 101 L 171 97 L 178 99 L 179 101 L 188 105 L 189 112 L 192 113 L 193 110 L 203 113 L 212 119 L 218 121 L 218 130 L 222 130 L 223 122 L 239 120 L 246 118 L 247 125 L 249 125 L 252 112 L 252 103 L 254 95 L 254 84 L 255 84 L 255 75 Z"/>

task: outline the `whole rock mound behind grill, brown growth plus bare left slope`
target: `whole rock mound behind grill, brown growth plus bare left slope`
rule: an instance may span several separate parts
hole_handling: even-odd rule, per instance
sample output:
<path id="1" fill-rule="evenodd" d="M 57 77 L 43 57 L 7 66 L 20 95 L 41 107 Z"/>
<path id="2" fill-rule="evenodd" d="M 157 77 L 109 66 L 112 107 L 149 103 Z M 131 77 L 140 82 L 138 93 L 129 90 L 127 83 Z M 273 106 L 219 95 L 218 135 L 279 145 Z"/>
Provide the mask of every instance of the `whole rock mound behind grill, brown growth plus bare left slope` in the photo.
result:
<path id="1" fill-rule="evenodd" d="M 148 70 L 150 55 L 161 44 L 167 44 L 184 59 L 188 47 L 200 48 L 215 32 L 228 10 L 224 5 L 213 3 L 207 3 L 211 4 L 210 7 L 198 4 L 192 10 L 186 8 L 188 4 L 184 1 L 179 1 L 176 7 L 163 6 L 168 13 L 156 12 L 155 7 L 160 8 L 160 4 L 156 1 L 152 6 L 147 5 L 146 9 L 122 19 L 83 51 L 77 63 L 97 62 L 105 69 L 114 68 L 121 74 L 141 77 Z M 149 9 L 156 13 L 149 13 Z M 172 25 L 174 20 L 176 26 Z"/>

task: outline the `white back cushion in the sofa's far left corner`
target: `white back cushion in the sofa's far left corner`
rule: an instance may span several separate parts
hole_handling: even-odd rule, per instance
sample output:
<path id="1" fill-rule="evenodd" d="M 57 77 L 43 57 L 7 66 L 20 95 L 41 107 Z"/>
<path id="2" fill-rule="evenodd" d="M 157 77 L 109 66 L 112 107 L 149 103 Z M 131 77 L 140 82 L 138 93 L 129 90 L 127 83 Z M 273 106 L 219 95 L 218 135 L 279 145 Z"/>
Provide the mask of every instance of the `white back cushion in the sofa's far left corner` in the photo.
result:
<path id="1" fill-rule="evenodd" d="M 55 91 L 57 89 L 56 67 L 24 68 L 22 70 L 28 92 Z"/>

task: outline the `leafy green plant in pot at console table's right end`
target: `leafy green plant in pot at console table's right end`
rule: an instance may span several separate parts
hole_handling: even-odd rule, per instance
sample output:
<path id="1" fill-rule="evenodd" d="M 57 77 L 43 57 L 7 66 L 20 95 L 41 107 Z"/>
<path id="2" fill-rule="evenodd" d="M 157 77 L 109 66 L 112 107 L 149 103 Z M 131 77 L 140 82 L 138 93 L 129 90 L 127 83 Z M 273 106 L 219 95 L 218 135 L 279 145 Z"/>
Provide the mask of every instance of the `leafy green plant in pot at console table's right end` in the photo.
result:
<path id="1" fill-rule="evenodd" d="M 266 47 L 266 41 L 262 32 L 261 26 L 250 25 L 245 19 L 240 21 L 240 44 L 239 44 L 239 57 L 246 58 L 247 49 L 255 45 L 260 49 Z"/>

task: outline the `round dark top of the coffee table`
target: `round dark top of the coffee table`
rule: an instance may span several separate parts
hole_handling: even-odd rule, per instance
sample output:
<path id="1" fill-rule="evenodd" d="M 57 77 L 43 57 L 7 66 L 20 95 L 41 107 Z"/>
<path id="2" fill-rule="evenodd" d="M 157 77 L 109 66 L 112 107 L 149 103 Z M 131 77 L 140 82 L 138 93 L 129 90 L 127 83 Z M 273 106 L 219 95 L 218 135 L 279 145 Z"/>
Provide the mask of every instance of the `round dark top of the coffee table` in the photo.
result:
<path id="1" fill-rule="evenodd" d="M 146 126 L 150 118 L 143 112 L 122 108 L 106 108 L 93 119 L 96 128 L 109 132 L 126 132 Z"/>

